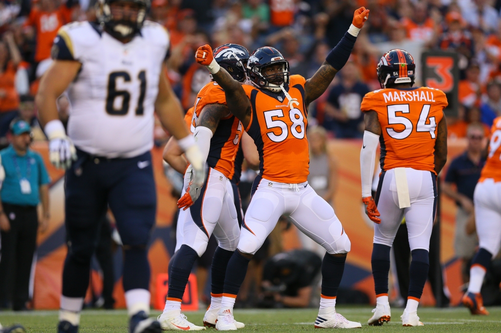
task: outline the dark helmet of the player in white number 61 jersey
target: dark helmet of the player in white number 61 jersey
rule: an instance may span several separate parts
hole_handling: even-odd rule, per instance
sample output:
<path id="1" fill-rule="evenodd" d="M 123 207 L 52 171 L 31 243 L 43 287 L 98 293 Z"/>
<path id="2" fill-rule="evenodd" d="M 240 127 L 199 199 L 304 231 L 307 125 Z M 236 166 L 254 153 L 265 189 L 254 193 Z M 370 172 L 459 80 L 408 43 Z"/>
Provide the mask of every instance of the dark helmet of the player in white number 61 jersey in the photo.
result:
<path id="1" fill-rule="evenodd" d="M 110 5 L 114 2 L 130 2 L 139 5 L 137 16 L 114 17 Z M 116 38 L 128 38 L 138 33 L 143 27 L 151 0 L 97 0 L 96 16 L 107 27 L 107 32 Z M 132 16 L 132 17 L 131 17 Z M 130 18 L 130 19 L 127 19 Z"/>

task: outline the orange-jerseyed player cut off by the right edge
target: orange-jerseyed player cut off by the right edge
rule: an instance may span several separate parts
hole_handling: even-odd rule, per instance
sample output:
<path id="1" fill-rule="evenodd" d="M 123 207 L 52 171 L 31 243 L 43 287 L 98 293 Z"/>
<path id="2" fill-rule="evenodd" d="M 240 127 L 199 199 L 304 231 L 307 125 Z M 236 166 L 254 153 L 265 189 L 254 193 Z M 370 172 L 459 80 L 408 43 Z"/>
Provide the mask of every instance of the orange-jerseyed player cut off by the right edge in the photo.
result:
<path id="1" fill-rule="evenodd" d="M 501 117 L 491 128 L 487 161 L 473 193 L 479 249 L 470 268 L 468 290 L 462 298 L 471 314 L 489 314 L 483 307 L 480 289 L 490 260 L 501 246 Z"/>

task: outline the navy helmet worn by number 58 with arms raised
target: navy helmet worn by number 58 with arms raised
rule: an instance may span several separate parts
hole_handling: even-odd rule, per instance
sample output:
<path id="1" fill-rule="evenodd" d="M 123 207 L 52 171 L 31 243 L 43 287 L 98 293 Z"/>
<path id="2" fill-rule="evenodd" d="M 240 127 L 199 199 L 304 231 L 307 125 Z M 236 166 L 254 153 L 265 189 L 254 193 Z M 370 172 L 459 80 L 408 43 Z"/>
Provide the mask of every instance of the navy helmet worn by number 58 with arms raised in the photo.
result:
<path id="1" fill-rule="evenodd" d="M 276 64 L 283 64 L 282 72 L 266 76 L 263 75 L 263 69 Z M 281 90 L 280 85 L 289 85 L 289 79 L 291 77 L 289 61 L 287 61 L 282 53 L 274 47 L 260 47 L 250 54 L 247 62 L 247 69 L 247 75 L 250 81 L 259 88 L 266 88 L 273 92 L 279 92 Z M 270 82 L 270 79 L 280 79 L 283 83 L 275 84 Z"/>

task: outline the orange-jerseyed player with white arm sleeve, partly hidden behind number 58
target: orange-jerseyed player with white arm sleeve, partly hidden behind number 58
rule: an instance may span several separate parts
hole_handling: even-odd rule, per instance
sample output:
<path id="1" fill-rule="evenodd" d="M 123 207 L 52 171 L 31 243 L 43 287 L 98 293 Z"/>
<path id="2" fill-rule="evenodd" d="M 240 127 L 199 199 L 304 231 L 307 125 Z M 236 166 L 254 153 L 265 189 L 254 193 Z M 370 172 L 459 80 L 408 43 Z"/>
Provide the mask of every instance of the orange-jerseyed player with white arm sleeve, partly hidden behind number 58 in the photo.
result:
<path id="1" fill-rule="evenodd" d="M 235 54 L 237 57 L 233 56 Z M 245 47 L 224 44 L 214 50 L 213 57 L 220 66 L 231 72 L 234 79 L 238 82 L 245 81 L 244 63 L 249 57 Z M 169 271 L 167 300 L 164 311 L 158 319 L 164 330 L 205 328 L 189 322 L 181 313 L 181 299 L 193 263 L 205 252 L 212 233 L 218 240 L 218 246 L 212 258 L 211 302 L 203 322 L 205 326 L 216 324 L 226 266 L 236 249 L 240 234 L 238 215 L 240 213 L 241 216 L 241 208 L 236 183 L 239 181 L 243 157 L 239 159 L 239 165 L 235 164 L 235 157 L 242 139 L 242 124 L 231 114 L 226 106 L 224 91 L 213 81 L 198 92 L 192 116 L 189 120 L 186 118 L 185 120 L 193 130 L 193 135 L 206 160 L 208 176 L 204 183 L 198 184 L 194 179 L 190 180 L 190 167 L 185 173 L 186 190 L 178 200 L 178 207 L 183 209 L 178 219 L 178 226 L 182 227 L 182 236 L 176 239 L 178 250 L 172 258 Z M 252 158 L 252 146 L 255 151 L 256 148 L 248 135 L 245 138 L 247 142 L 246 144 L 242 142 L 242 154 L 249 159 Z M 168 143 L 168 146 L 169 149 L 176 150 L 172 142 Z M 177 150 L 177 153 L 179 152 L 180 150 Z M 172 158 L 171 153 L 166 155 L 174 163 L 182 164 L 179 158 Z M 257 164 L 252 159 L 250 162 Z M 234 321 L 234 324 L 238 328 L 244 327 L 240 322 Z"/>

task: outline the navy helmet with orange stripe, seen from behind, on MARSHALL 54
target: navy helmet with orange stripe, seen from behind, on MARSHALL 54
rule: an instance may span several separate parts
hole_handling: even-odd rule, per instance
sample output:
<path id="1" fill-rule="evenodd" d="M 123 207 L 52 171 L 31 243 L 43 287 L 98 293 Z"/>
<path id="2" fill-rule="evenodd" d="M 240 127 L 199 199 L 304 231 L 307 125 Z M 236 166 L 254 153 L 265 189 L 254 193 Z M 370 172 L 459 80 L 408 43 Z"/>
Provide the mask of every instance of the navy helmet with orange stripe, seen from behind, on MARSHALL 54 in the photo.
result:
<path id="1" fill-rule="evenodd" d="M 416 79 L 414 58 L 403 49 L 389 50 L 379 60 L 377 79 L 383 89 L 399 83 L 414 85 Z"/>

